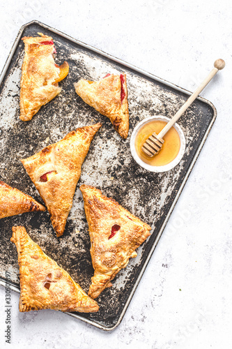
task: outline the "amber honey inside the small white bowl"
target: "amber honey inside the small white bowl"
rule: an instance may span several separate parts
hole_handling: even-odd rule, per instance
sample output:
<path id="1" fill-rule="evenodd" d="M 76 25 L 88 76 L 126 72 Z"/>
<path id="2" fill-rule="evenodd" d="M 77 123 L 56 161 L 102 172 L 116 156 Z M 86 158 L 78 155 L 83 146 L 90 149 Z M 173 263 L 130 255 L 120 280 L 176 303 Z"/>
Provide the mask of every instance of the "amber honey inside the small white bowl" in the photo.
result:
<path id="1" fill-rule="evenodd" d="M 148 163 L 151 166 L 164 166 L 178 156 L 180 150 L 180 137 L 175 128 L 170 128 L 170 130 L 164 135 L 164 144 L 162 149 L 153 157 L 147 156 L 144 151 L 141 150 L 144 142 L 152 135 L 154 132 L 156 134 L 160 133 L 162 128 L 167 124 L 166 121 L 153 120 L 141 127 L 135 139 L 135 149 L 139 158 L 141 158 L 144 163 Z"/>

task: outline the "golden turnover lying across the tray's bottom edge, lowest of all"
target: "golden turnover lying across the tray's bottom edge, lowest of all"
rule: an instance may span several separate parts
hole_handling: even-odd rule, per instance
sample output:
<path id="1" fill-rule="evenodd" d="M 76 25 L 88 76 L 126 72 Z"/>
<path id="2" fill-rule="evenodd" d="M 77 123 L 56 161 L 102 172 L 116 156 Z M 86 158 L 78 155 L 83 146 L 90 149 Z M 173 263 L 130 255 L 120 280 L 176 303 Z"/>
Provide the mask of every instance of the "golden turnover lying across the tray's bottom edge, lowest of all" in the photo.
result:
<path id="1" fill-rule="evenodd" d="M 24 227 L 13 227 L 10 241 L 20 265 L 20 311 L 54 309 L 90 313 L 99 307 L 71 276 L 49 258 Z"/>

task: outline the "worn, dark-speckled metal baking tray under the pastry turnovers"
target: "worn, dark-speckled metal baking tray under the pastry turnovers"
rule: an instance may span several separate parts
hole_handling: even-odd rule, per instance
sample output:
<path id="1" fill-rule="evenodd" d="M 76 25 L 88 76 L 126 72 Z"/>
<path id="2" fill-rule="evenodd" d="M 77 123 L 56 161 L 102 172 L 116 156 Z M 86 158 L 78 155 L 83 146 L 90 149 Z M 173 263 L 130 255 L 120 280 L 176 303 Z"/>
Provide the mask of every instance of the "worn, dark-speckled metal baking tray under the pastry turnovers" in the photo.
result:
<path id="1" fill-rule="evenodd" d="M 59 83 L 63 89 L 61 95 L 42 107 L 31 121 L 23 122 L 19 119 L 20 75 L 24 55 L 21 38 L 36 36 L 38 32 L 54 38 L 57 50 L 56 64 L 68 61 L 70 73 Z M 107 73 L 121 72 L 127 74 L 130 110 L 130 131 L 127 140 L 123 140 L 114 131 L 106 117 L 86 105 L 73 87 L 73 83 L 82 77 L 98 80 Z M 4 277 L 8 271 L 11 275 L 12 289 L 20 292 L 17 252 L 15 245 L 10 242 L 10 237 L 13 225 L 24 225 L 42 250 L 67 270 L 88 292 L 93 267 L 89 252 L 88 225 L 79 186 L 84 183 L 96 186 L 102 193 L 117 200 L 153 228 L 153 234 L 137 249 L 137 258 L 131 259 L 127 267 L 118 273 L 113 286 L 98 297 L 100 311 L 92 314 L 69 313 L 100 329 L 114 329 L 121 322 L 130 304 L 150 256 L 215 121 L 215 107 L 204 98 L 194 101 L 178 121 L 186 139 L 182 161 L 173 170 L 156 174 L 144 170 L 134 162 L 130 154 L 132 130 L 139 121 L 154 114 L 172 117 L 190 92 L 38 21 L 25 24 L 20 29 L 1 73 L 0 83 L 0 178 L 40 202 L 41 198 L 20 159 L 61 140 L 79 126 L 102 122 L 102 128 L 95 135 L 82 166 L 82 176 L 77 184 L 63 237 L 56 238 L 47 212 L 22 214 L 0 220 L 1 285 L 5 285 Z"/>

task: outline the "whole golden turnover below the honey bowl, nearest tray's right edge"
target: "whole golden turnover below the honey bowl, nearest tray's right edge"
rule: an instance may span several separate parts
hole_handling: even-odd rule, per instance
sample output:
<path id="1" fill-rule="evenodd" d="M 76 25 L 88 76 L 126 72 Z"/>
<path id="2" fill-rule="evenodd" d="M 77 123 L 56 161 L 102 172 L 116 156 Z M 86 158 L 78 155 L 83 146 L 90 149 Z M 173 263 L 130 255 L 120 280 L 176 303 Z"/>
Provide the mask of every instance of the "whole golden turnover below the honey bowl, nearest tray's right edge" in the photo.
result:
<path id="1" fill-rule="evenodd" d="M 96 298 L 111 280 L 137 256 L 139 247 L 150 235 L 150 226 L 121 207 L 114 199 L 102 195 L 93 186 L 80 186 L 91 238 L 94 276 L 88 295 Z"/>

